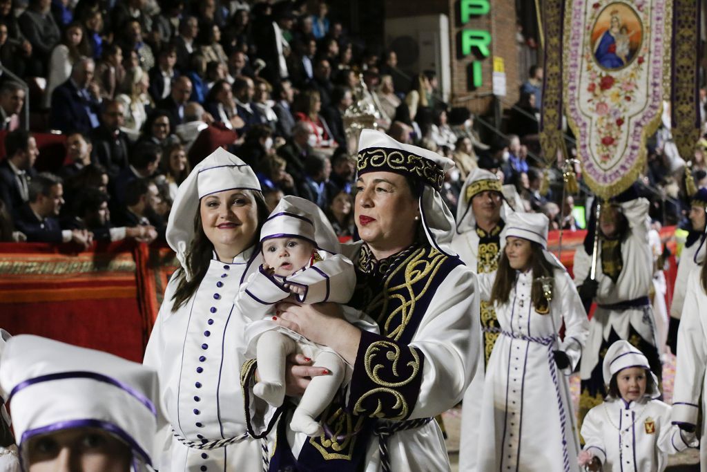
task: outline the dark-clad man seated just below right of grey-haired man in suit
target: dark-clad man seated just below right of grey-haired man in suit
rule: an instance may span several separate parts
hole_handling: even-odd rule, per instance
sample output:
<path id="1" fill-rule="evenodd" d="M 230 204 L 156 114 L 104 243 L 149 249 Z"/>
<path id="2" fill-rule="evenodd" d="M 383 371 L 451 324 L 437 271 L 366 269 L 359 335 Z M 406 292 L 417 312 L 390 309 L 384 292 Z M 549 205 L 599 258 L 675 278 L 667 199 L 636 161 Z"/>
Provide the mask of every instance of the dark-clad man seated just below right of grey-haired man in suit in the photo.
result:
<path id="1" fill-rule="evenodd" d="M 129 137 L 122 131 L 124 105 L 118 100 L 105 100 L 100 126 L 93 130 L 92 141 L 96 162 L 115 177 L 128 166 Z"/>

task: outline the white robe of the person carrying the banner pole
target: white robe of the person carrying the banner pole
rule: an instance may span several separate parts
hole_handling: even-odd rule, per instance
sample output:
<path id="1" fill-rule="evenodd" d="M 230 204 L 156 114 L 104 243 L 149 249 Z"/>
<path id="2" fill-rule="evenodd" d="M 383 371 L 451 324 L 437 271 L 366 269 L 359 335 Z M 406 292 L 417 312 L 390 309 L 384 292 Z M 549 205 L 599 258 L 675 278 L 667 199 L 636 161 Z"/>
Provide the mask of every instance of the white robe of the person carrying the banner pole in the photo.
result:
<path id="1" fill-rule="evenodd" d="M 653 285 L 653 252 L 648 245 L 648 200 L 638 198 L 621 203 L 624 217 L 629 221 L 629 236 L 621 242 L 621 258 L 624 270 L 617 283 L 604 275 L 601 262 L 597 263 L 597 304 L 616 304 L 639 297 L 648 297 Z M 601 245 L 600 245 L 601 261 Z M 592 267 L 592 255 L 583 247 L 577 248 L 574 259 L 574 280 L 582 284 L 589 276 Z M 655 327 L 653 318 L 646 318 L 643 309 L 624 311 L 607 310 L 597 306 L 590 321 L 590 331 L 580 365 L 583 380 L 592 376 L 592 370 L 600 362 L 602 340 L 609 339 L 612 328 L 621 339 L 629 338 L 629 326 L 633 327 L 648 343 L 655 345 Z"/>

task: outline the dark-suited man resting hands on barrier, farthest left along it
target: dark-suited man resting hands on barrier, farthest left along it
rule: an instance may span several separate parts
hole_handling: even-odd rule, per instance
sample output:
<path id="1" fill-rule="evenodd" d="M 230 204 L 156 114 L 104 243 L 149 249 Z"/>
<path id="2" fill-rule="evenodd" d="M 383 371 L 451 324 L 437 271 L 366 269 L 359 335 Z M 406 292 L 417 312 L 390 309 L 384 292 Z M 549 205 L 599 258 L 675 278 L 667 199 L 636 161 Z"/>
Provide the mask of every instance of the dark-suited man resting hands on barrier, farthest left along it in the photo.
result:
<path id="1" fill-rule="evenodd" d="M 83 250 L 91 245 L 93 235 L 84 229 L 59 226 L 59 212 L 64 205 L 62 179 L 40 173 L 30 182 L 30 199 L 17 209 L 15 225 L 27 235 L 30 243 L 77 243 Z"/>

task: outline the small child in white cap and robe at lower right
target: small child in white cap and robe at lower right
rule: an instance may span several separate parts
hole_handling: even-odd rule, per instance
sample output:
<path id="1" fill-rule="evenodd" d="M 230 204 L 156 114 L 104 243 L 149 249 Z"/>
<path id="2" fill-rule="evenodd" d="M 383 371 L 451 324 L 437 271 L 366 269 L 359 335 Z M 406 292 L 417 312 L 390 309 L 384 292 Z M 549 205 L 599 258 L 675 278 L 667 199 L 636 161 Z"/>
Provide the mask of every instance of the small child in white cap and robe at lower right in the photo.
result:
<path id="1" fill-rule="evenodd" d="M 670 423 L 670 405 L 660 396 L 658 378 L 648 359 L 631 343 L 619 340 L 604 356 L 608 395 L 584 418 L 585 447 L 578 456 L 589 471 L 661 472 L 667 455 L 696 447 L 694 434 Z"/>

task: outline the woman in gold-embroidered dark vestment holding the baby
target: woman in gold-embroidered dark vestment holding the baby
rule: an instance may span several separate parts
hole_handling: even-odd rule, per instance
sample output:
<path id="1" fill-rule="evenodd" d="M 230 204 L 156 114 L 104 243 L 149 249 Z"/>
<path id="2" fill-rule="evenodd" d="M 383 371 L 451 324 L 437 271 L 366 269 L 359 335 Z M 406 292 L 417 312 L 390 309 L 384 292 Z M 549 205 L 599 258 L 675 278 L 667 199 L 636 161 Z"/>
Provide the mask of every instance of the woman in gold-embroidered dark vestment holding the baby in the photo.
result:
<path id="1" fill-rule="evenodd" d="M 288 428 L 284 408 L 269 470 L 450 470 L 433 418 L 461 400 L 481 355 L 476 276 L 450 250 L 454 219 L 439 193 L 452 166 L 380 132 L 361 133 L 361 241 L 342 252 L 356 268 L 349 306 L 373 318 L 380 334 L 345 321 L 334 304 L 278 305 L 277 323 L 331 347 L 353 374 L 322 413 L 317 437 Z M 244 374 L 252 385 L 255 365 Z M 267 434 L 267 418 L 248 406 L 252 434 Z"/>

